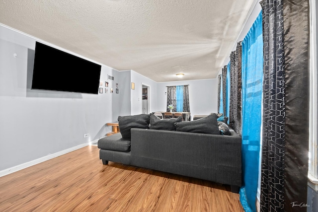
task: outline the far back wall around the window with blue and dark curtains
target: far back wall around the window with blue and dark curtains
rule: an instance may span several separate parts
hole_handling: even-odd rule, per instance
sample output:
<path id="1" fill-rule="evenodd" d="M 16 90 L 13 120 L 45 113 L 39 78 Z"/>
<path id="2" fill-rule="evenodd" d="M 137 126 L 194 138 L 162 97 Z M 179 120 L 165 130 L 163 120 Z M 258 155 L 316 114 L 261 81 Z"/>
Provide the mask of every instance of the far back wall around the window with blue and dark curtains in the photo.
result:
<path id="1" fill-rule="evenodd" d="M 166 111 L 166 86 L 189 85 L 191 120 L 194 115 L 208 115 L 218 112 L 218 80 L 190 80 L 160 82 L 157 85 L 157 111 Z"/>

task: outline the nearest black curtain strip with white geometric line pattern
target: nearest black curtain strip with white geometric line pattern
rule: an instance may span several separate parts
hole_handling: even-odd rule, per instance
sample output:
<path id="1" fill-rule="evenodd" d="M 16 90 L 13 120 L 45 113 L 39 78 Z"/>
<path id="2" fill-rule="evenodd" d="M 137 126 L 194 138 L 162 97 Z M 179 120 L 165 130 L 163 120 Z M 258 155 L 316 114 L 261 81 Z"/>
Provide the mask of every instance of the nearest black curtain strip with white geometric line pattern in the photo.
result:
<path id="1" fill-rule="evenodd" d="M 284 210 L 285 57 L 283 0 L 262 0 L 263 133 L 260 211 Z"/>

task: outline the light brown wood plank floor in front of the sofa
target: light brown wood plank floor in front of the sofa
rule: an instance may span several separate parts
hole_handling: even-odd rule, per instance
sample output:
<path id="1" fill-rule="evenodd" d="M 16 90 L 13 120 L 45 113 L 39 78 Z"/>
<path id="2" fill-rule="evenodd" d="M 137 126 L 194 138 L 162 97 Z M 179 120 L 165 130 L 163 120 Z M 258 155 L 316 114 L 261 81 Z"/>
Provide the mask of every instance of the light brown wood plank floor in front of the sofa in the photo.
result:
<path id="1" fill-rule="evenodd" d="M 210 181 L 102 165 L 86 146 L 0 177 L 0 212 L 243 212 L 239 194 Z"/>

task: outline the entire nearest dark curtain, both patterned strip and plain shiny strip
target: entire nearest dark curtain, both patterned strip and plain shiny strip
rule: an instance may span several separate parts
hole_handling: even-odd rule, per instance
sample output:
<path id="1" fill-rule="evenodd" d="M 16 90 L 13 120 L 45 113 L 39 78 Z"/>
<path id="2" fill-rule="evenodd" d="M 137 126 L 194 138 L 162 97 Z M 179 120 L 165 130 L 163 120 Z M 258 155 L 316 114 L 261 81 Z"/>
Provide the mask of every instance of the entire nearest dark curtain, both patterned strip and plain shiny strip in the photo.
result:
<path id="1" fill-rule="evenodd" d="M 262 0 L 261 5 L 264 35 L 261 211 L 306 212 L 309 1 Z"/>

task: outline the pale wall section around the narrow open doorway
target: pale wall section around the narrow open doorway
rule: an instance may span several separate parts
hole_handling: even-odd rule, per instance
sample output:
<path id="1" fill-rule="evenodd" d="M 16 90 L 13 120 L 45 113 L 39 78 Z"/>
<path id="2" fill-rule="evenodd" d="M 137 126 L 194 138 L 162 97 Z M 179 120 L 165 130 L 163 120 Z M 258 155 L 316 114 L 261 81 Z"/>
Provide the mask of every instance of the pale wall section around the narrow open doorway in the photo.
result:
<path id="1" fill-rule="evenodd" d="M 148 93 L 150 111 L 155 112 L 158 110 L 158 83 L 135 71 L 131 71 L 131 81 L 135 83 L 135 90 L 131 89 L 131 115 L 138 115 L 142 113 L 142 84 L 150 87 L 150 93 Z"/>

